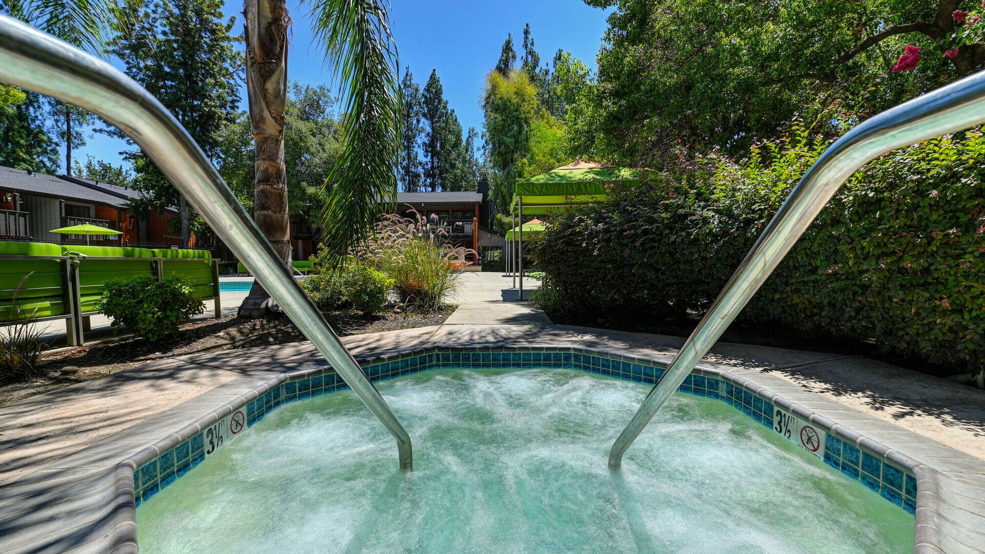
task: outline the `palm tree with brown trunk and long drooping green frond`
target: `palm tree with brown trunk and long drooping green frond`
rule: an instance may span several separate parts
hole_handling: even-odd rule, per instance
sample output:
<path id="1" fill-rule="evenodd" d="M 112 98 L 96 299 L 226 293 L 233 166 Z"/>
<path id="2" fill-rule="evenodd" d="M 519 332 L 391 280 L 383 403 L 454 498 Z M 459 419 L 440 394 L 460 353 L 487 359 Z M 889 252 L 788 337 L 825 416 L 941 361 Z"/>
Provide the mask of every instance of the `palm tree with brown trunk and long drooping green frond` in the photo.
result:
<path id="1" fill-rule="evenodd" d="M 342 151 L 326 179 L 322 218 L 328 259 L 341 263 L 369 233 L 383 205 L 395 200 L 400 144 L 396 48 L 387 0 L 306 0 L 325 60 L 337 75 L 345 118 Z M 253 218 L 291 263 L 284 110 L 287 104 L 288 32 L 285 0 L 245 0 L 246 91 L 256 156 Z M 258 283 L 239 308 L 258 316 L 273 301 Z"/>

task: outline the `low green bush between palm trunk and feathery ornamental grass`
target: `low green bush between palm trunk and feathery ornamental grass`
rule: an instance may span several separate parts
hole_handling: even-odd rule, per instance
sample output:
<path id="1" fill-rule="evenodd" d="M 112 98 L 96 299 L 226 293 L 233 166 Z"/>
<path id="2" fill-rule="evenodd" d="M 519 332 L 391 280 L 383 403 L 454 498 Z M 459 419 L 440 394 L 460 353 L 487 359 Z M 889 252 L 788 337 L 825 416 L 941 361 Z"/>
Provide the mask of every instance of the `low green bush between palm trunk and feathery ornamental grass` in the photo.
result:
<path id="1" fill-rule="evenodd" d="M 319 310 L 358 310 L 365 314 L 383 311 L 392 286 L 393 279 L 362 263 L 318 271 L 301 282 Z"/>

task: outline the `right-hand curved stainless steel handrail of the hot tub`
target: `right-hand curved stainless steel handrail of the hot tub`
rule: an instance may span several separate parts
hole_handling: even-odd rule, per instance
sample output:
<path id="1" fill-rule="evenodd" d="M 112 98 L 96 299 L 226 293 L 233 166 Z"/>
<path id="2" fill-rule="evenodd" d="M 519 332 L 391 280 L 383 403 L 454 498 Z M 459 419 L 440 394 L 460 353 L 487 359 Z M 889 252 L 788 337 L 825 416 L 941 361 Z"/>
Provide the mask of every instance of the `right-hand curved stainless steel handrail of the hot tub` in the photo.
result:
<path id="1" fill-rule="evenodd" d="M 615 469 L 622 465 L 625 450 L 688 377 L 697 362 L 707 354 L 852 173 L 891 150 L 981 123 L 985 123 L 985 72 L 887 109 L 829 146 L 776 212 L 718 299 L 674 357 L 663 379 L 650 390 L 625 426 L 609 452 L 609 467 Z"/>

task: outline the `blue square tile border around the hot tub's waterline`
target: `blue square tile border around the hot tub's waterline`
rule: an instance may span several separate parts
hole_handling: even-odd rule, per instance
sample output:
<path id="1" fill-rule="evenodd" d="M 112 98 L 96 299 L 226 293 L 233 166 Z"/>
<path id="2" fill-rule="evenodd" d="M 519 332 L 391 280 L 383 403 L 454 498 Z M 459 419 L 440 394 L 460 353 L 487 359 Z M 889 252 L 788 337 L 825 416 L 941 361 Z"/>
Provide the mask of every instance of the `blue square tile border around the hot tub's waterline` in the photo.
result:
<path id="1" fill-rule="evenodd" d="M 587 348 L 427 348 L 372 358 L 361 362 L 362 372 L 370 381 L 384 381 L 426 370 L 442 369 L 573 369 L 624 381 L 654 384 L 663 378 L 664 367 L 652 360 L 617 355 Z M 764 397 L 758 387 L 741 378 L 725 373 L 696 369 L 681 384 L 679 390 L 723 401 L 766 427 L 773 427 L 779 402 L 775 395 Z M 296 400 L 345 390 L 349 387 L 331 370 L 317 370 L 285 375 L 267 390 L 252 394 L 252 398 L 231 405 L 229 414 L 184 438 L 178 445 L 151 456 L 133 472 L 135 502 L 147 502 L 162 489 L 185 475 L 238 432 L 231 418 L 241 411 L 240 431 L 252 427 L 274 409 Z M 752 388 L 752 389 L 751 389 Z M 784 406 L 788 408 L 789 406 Z M 807 419 L 807 418 L 805 418 Z M 837 430 L 812 419 L 821 428 L 824 438 L 823 462 L 832 470 L 858 481 L 893 505 L 914 514 L 916 510 L 917 479 L 913 471 L 894 465 L 876 451 L 853 445 Z M 210 435 L 212 433 L 212 435 Z M 225 435 L 224 435 L 225 433 Z M 231 433 L 231 435 L 230 435 Z M 218 440 L 218 444 L 216 441 Z"/>

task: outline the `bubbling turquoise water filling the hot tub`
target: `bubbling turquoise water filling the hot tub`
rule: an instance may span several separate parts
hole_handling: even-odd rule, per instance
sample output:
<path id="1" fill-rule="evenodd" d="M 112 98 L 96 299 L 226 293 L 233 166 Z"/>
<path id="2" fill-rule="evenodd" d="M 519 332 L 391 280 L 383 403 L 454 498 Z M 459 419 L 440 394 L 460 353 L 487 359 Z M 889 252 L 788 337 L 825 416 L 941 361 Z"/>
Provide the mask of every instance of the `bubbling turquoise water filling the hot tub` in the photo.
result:
<path id="1" fill-rule="evenodd" d="M 678 394 L 612 473 L 649 386 L 574 370 L 377 383 L 284 406 L 137 511 L 142 552 L 907 552 L 914 519 L 727 404 Z"/>

